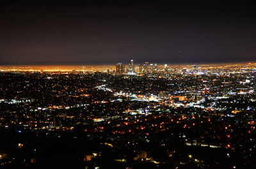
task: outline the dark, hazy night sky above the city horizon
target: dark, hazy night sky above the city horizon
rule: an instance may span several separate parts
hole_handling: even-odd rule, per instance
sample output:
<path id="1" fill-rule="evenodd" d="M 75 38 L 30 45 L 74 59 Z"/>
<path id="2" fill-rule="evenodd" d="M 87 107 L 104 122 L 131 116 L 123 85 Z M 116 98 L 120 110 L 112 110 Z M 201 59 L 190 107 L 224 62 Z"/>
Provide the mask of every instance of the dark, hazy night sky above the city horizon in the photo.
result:
<path id="1" fill-rule="evenodd" d="M 0 4 L 2 65 L 256 61 L 256 10 L 246 1 Z"/>

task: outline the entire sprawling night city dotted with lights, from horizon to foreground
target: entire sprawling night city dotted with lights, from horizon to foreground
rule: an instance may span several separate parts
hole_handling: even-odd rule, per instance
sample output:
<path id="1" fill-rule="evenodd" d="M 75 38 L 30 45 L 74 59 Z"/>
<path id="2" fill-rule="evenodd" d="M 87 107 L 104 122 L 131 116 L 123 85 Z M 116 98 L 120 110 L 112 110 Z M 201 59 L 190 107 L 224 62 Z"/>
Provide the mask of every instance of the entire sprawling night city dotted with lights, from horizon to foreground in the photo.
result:
<path id="1" fill-rule="evenodd" d="M 1 66 L 1 167 L 255 165 L 256 63 L 73 69 Z"/>

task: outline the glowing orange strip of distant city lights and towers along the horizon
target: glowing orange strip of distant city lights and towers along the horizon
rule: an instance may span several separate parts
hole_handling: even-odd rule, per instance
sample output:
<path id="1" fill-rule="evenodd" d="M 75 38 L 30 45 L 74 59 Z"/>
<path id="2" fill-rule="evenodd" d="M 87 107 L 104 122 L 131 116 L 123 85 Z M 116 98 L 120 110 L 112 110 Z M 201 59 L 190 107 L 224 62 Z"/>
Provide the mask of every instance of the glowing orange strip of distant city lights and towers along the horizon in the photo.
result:
<path id="1" fill-rule="evenodd" d="M 116 70 L 116 66 L 118 64 L 122 64 L 124 66 L 124 73 L 132 72 L 138 72 L 139 69 L 143 69 L 143 66 L 145 66 L 145 63 L 148 64 L 148 66 L 155 68 L 160 68 L 160 70 L 164 70 L 165 68 L 170 69 L 179 69 L 182 70 L 183 68 L 189 68 L 193 70 L 196 66 L 196 68 L 203 68 L 203 69 L 211 69 L 211 68 L 234 68 L 234 69 L 240 69 L 240 68 L 253 68 L 256 65 L 256 62 L 237 62 L 237 63 L 214 63 L 214 64 L 157 64 L 155 62 L 141 62 L 136 63 L 134 60 L 127 63 L 122 62 L 116 62 L 115 64 L 109 64 L 109 65 L 0 65 L 0 71 L 108 71 L 108 70 Z M 131 67 L 130 67 L 131 66 Z"/>

